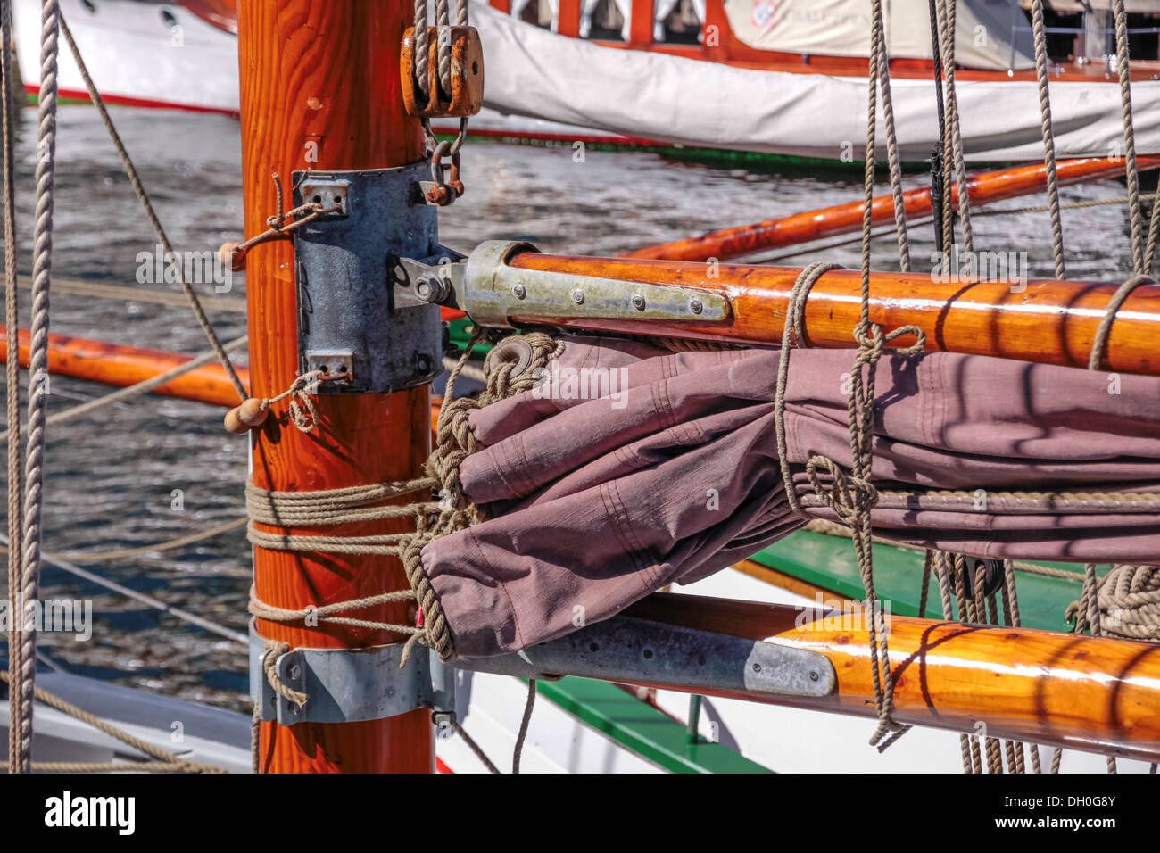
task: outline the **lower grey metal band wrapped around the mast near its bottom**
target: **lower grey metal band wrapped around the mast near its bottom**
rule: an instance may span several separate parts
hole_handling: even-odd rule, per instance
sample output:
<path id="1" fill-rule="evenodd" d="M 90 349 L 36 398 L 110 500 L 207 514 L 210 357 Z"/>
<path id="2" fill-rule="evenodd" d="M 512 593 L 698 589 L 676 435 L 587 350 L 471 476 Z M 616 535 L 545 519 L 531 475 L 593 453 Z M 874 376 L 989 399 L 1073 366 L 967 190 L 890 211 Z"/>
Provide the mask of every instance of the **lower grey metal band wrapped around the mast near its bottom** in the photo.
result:
<path id="1" fill-rule="evenodd" d="M 455 710 L 454 670 L 425 646 L 414 646 L 399 667 L 404 643 L 367 649 L 292 649 L 275 672 L 306 695 L 302 708 L 278 695 L 266 679 L 266 639 L 249 623 L 249 695 L 261 720 L 295 723 L 355 723 L 385 720 L 416 708 Z"/>

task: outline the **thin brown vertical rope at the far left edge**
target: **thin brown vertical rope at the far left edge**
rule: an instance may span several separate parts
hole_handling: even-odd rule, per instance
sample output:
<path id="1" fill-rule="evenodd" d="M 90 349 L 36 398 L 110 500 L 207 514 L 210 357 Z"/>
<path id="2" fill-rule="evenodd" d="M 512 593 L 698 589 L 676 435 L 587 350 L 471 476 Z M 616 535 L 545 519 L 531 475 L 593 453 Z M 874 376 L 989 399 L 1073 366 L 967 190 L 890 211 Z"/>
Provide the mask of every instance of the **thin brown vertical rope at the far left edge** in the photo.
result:
<path id="1" fill-rule="evenodd" d="M 15 178 L 15 138 L 13 130 L 14 104 L 12 96 L 12 0 L 0 2 L 0 109 L 3 110 L 3 233 L 5 233 L 5 332 L 9 338 L 17 335 L 19 305 L 16 288 L 16 178 Z M 15 547 L 8 552 L 8 588 L 20 590 L 21 586 L 21 519 L 23 518 L 22 472 L 20 468 L 20 352 L 19 346 L 7 348 L 5 356 L 5 405 L 8 417 L 8 540 Z M 19 630 L 19 629 L 17 629 Z M 13 638 L 19 638 L 14 632 Z M 21 658 L 22 643 L 9 643 L 10 665 L 23 671 Z M 20 761 L 20 706 L 9 706 L 8 718 L 8 759 L 10 766 L 19 767 Z"/>

